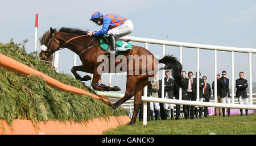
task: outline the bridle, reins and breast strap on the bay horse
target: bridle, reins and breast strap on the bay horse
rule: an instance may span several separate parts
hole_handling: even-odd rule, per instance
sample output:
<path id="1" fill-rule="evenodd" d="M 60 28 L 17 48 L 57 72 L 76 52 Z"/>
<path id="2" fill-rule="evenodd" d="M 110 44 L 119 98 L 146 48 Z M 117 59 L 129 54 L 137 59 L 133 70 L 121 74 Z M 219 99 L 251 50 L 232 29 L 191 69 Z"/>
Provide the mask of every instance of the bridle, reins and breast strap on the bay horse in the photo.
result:
<path id="1" fill-rule="evenodd" d="M 52 38 L 51 38 L 51 41 L 50 41 L 49 45 L 47 46 L 47 50 L 44 51 L 44 52 L 45 52 L 46 56 L 50 56 L 50 55 L 52 55 L 54 52 L 59 51 L 59 50 L 61 50 L 61 49 L 64 49 L 63 46 L 64 46 L 65 44 L 68 44 L 70 41 L 75 40 L 75 39 L 80 38 L 80 37 L 84 37 L 84 36 L 89 36 L 89 35 L 80 35 L 80 36 L 72 37 L 71 39 L 65 41 L 65 43 L 63 43 L 63 44 L 60 45 L 60 43 L 58 43 L 57 40 L 54 38 L 54 33 L 53 33 L 52 35 L 49 35 L 49 37 L 52 37 Z M 82 55 L 82 54 L 83 54 L 85 51 L 87 51 L 88 49 L 93 48 L 93 47 L 96 47 L 97 45 L 100 45 L 100 44 L 91 45 L 91 44 L 94 43 L 94 40 L 96 40 L 96 37 L 92 36 L 92 40 L 91 40 L 90 43 L 87 45 L 87 47 L 86 47 L 82 52 L 79 53 L 79 56 Z M 55 41 L 56 44 L 60 45 L 60 48 L 59 48 L 59 49 L 56 49 L 56 50 L 53 50 L 53 51 L 50 51 L 50 49 L 48 49 L 48 48 L 51 47 L 52 41 Z"/>

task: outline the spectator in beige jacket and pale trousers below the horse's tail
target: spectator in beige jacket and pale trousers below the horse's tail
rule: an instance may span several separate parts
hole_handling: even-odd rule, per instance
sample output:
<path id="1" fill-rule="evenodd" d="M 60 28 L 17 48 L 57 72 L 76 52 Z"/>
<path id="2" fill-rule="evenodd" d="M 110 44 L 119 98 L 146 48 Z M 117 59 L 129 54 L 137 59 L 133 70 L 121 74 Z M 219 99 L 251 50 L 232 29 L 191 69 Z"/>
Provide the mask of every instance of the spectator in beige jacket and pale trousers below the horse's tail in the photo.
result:
<path id="1" fill-rule="evenodd" d="M 158 73 L 155 75 L 154 81 L 151 81 L 151 84 L 152 84 L 152 97 L 158 97 L 158 90 L 159 90 Z M 151 110 L 151 120 L 153 120 L 154 111 L 155 111 L 155 120 L 160 120 L 159 119 L 159 115 L 160 115 L 159 102 L 150 102 L 150 110 Z"/>

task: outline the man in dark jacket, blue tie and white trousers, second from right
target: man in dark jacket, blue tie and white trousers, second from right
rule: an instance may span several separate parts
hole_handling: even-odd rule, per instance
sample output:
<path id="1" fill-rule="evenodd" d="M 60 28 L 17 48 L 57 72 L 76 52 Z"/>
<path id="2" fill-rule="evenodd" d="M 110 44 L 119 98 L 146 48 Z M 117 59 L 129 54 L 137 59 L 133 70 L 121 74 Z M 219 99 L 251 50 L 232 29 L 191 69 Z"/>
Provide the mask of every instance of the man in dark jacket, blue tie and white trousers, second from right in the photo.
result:
<path id="1" fill-rule="evenodd" d="M 226 77 L 226 71 L 221 72 L 222 77 L 217 81 L 217 90 L 221 98 L 221 103 L 230 103 L 229 78 Z M 225 117 L 225 108 L 222 108 L 222 115 Z M 228 109 L 230 116 L 230 109 Z"/>

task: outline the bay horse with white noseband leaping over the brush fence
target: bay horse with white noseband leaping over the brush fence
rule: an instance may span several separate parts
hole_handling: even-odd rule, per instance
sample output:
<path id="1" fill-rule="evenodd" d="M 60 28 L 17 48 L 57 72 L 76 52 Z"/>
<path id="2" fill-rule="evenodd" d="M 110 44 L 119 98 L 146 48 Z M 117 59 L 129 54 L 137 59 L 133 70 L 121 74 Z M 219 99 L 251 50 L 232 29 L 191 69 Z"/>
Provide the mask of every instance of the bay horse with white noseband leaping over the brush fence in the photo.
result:
<path id="1" fill-rule="evenodd" d="M 172 69 L 172 76 L 174 77 L 177 84 L 181 85 L 181 80 L 183 80 L 181 77 L 182 65 L 174 56 L 167 55 L 164 56 L 163 59 L 158 60 L 147 49 L 133 45 L 132 49 L 119 52 L 117 56 L 113 57 L 110 55 L 105 57 L 105 59 L 110 60 L 105 62 L 105 60 L 102 61 L 102 58 L 100 58 L 100 56 L 104 56 L 104 53 L 106 52 L 105 50 L 101 49 L 99 45 L 102 36 L 88 36 L 86 35 L 86 31 L 65 27 L 60 28 L 59 31 L 50 28 L 50 32 L 51 33 L 47 37 L 44 46 L 42 46 L 43 51 L 40 52 L 42 59 L 47 59 L 49 55 L 52 55 L 52 53 L 58 51 L 60 48 L 70 49 L 79 55 L 82 62 L 82 65 L 73 66 L 71 72 L 75 75 L 75 78 L 80 81 L 88 81 L 91 78 L 88 75 L 80 77 L 80 75 L 76 73 L 77 71 L 92 73 L 93 89 L 105 91 L 121 90 L 118 86 L 102 87 L 96 85 L 102 74 L 102 72 L 99 71 L 106 69 L 108 66 L 110 67 L 106 69 L 105 72 L 117 73 L 115 68 L 120 66 L 121 67 L 118 72 L 127 72 L 125 95 L 119 99 L 119 101 L 115 102 L 112 105 L 112 108 L 117 108 L 122 103 L 126 102 L 128 99 L 134 96 L 134 112 L 129 123 L 131 125 L 135 124 L 138 116 L 143 87 L 149 84 L 154 78 L 156 72 L 158 71 L 159 63 L 165 64 L 164 68 L 161 69 Z M 134 57 L 134 59 L 131 60 L 129 57 L 133 56 L 137 57 Z M 114 61 L 111 61 L 111 57 L 114 58 Z M 143 61 L 143 59 L 146 59 L 146 61 Z M 101 66 L 101 68 L 99 66 Z"/>

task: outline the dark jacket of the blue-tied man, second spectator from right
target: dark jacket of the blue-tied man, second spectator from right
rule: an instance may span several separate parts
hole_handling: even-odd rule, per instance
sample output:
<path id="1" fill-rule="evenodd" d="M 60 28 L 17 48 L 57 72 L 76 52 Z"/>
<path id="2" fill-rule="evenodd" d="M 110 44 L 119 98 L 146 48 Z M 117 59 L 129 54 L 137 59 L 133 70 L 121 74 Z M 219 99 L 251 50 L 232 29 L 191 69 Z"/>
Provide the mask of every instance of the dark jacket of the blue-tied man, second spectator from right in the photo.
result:
<path id="1" fill-rule="evenodd" d="M 226 78 L 226 84 L 224 81 L 224 77 L 221 77 L 218 81 L 217 81 L 217 90 L 218 90 L 218 94 L 220 95 L 220 97 L 226 97 L 228 94 L 228 98 L 230 98 L 230 93 L 229 93 L 229 79 Z"/>

